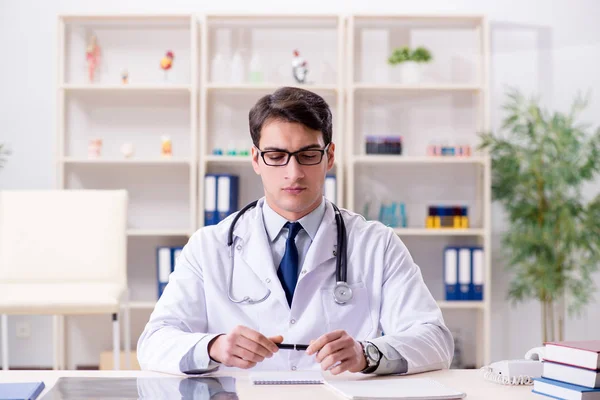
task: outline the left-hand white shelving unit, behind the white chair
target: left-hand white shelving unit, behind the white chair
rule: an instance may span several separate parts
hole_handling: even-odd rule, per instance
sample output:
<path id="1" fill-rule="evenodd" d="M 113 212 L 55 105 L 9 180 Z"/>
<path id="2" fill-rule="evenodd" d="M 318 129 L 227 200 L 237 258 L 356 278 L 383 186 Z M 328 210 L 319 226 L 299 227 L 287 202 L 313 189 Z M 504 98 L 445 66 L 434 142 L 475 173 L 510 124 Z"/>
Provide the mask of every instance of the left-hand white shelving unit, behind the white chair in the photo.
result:
<path id="1" fill-rule="evenodd" d="M 156 302 L 156 247 L 183 245 L 197 228 L 198 34 L 193 14 L 58 18 L 57 186 L 129 192 L 126 349 L 129 310 L 149 311 Z M 101 53 L 90 82 L 85 55 L 92 35 Z M 160 60 L 167 51 L 175 58 L 165 74 Z M 172 140 L 171 158 L 161 157 L 164 135 Z M 101 156 L 89 158 L 96 138 Z M 125 142 L 134 147 L 130 158 L 120 152 Z M 98 354 L 104 350 L 96 346 Z"/>

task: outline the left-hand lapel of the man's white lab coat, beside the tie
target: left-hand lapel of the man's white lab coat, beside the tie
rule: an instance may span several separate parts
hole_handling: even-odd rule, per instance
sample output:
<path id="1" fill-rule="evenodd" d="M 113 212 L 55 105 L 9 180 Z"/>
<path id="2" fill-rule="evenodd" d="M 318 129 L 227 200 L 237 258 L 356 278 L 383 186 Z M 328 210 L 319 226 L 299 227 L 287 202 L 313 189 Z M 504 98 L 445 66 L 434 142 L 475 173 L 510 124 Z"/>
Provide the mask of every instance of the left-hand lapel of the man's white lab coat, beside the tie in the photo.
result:
<path id="1" fill-rule="evenodd" d="M 277 269 L 273 264 L 273 254 L 263 221 L 262 202 L 259 202 L 254 209 L 248 211 L 248 214 L 246 218 L 241 219 L 239 228 L 236 227 L 234 230 L 234 235 L 242 239 L 239 244 L 242 247 L 241 257 L 256 276 L 271 290 L 271 296 L 289 309 L 285 292 L 277 277 Z M 237 249 L 238 244 L 235 244 L 235 246 Z"/>

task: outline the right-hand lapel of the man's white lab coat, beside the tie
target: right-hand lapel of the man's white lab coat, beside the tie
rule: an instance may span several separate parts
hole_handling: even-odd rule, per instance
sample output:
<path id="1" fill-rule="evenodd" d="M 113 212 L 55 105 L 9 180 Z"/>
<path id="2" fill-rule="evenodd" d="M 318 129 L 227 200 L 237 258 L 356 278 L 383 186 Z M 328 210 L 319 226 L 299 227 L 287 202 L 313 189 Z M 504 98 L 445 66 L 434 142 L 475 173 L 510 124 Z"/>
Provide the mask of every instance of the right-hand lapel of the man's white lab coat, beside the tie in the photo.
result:
<path id="1" fill-rule="evenodd" d="M 308 248 L 302 269 L 308 274 L 325 261 L 335 258 L 336 247 L 337 225 L 335 223 L 335 211 L 333 210 L 333 206 L 327 202 L 325 204 L 323 220 L 321 221 L 321 225 L 319 225 L 315 239 Z"/>

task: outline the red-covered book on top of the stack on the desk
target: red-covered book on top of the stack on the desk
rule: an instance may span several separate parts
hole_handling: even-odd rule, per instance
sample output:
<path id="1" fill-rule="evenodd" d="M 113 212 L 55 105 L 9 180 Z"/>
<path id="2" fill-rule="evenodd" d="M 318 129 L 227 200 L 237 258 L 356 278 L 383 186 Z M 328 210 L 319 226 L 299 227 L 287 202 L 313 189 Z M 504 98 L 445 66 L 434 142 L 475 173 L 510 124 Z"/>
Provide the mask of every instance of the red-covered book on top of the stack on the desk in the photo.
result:
<path id="1" fill-rule="evenodd" d="M 600 340 L 545 343 L 544 359 L 598 371 L 600 370 Z"/>

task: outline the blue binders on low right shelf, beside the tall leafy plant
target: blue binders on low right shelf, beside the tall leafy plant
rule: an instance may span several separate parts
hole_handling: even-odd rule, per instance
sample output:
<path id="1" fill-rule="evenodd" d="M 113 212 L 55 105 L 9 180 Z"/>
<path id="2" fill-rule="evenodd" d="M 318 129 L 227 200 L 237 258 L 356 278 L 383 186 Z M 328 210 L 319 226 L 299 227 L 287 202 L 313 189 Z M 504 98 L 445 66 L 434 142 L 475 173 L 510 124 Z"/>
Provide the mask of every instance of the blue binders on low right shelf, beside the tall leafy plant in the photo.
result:
<path id="1" fill-rule="evenodd" d="M 444 249 L 446 300 L 483 300 L 484 258 L 481 247 Z"/>

